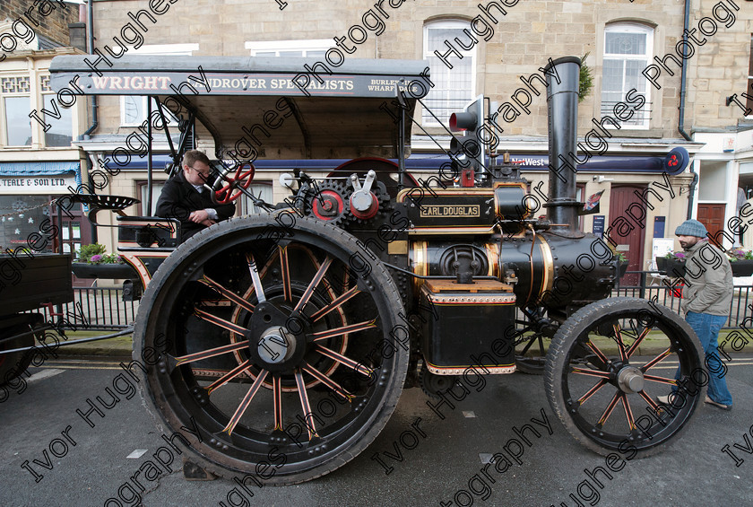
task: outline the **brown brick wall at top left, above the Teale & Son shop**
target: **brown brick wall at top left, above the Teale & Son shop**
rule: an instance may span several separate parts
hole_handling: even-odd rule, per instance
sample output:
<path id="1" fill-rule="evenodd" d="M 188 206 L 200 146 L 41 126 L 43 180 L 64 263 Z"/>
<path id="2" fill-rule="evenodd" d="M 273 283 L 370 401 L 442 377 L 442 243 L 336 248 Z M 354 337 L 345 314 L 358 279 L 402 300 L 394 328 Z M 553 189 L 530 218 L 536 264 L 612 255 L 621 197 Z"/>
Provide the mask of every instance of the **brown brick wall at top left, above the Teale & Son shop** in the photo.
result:
<path id="1" fill-rule="evenodd" d="M 0 22 L 21 18 L 33 31 L 52 39 L 62 46 L 70 46 L 68 23 L 78 22 L 77 4 L 58 3 L 55 0 L 2 0 Z"/>

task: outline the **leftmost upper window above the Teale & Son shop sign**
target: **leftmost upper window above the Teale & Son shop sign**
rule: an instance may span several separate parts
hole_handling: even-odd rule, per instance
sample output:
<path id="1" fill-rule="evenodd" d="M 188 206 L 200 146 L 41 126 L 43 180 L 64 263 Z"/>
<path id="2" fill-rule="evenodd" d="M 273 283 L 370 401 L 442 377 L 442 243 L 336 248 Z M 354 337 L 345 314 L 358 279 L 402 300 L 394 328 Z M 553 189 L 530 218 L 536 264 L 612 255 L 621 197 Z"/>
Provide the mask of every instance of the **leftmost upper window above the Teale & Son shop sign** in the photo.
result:
<path id="1" fill-rule="evenodd" d="M 29 76 L 6 76 L 0 78 L 0 107 L 3 108 L 6 146 L 31 145 L 31 110 Z"/>

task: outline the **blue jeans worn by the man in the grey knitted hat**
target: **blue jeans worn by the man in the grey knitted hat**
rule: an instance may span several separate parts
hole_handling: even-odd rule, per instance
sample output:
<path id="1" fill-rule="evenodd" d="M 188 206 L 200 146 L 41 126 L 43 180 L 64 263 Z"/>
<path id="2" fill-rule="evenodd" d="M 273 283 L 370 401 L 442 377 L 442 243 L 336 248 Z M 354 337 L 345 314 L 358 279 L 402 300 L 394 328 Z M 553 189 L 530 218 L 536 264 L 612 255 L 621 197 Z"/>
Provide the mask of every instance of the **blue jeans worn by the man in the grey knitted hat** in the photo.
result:
<path id="1" fill-rule="evenodd" d="M 685 320 L 696 331 L 701 346 L 704 347 L 705 366 L 708 372 L 708 397 L 716 403 L 731 406 L 732 395 L 730 390 L 727 389 L 727 380 L 724 378 L 727 367 L 722 363 L 720 354 L 716 350 L 719 346 L 719 330 L 722 329 L 727 318 L 723 315 L 688 311 Z M 679 367 L 675 379 L 679 380 Z"/>

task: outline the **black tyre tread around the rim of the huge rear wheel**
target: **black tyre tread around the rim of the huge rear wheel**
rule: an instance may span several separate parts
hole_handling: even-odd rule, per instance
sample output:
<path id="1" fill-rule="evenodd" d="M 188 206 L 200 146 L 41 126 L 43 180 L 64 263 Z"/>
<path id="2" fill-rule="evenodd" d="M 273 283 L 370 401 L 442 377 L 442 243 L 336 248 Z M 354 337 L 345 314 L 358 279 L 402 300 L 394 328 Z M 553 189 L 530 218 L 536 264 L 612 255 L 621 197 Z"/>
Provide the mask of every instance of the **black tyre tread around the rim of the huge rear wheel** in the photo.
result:
<path id="1" fill-rule="evenodd" d="M 234 229 L 244 229 L 253 227 L 255 225 L 266 225 L 274 223 L 273 217 L 276 214 L 282 213 L 283 211 L 286 210 L 273 212 L 272 214 L 233 217 L 227 221 L 218 223 L 216 225 L 213 225 L 212 227 L 208 227 L 202 232 L 196 233 L 194 236 L 186 240 L 183 244 L 178 246 L 178 248 L 160 265 L 160 267 L 152 277 L 149 287 L 147 287 L 147 289 L 144 291 L 143 299 L 141 304 L 139 305 L 139 312 L 137 314 L 136 323 L 134 326 L 134 360 L 141 359 L 143 340 L 140 339 L 140 337 L 143 336 L 143 332 L 145 331 L 145 329 L 143 329 L 143 325 L 145 324 L 146 313 L 151 310 L 152 304 L 155 302 L 157 296 L 160 293 L 161 282 L 164 281 L 169 272 L 171 272 L 174 267 L 177 267 L 189 252 L 193 253 L 194 249 L 197 248 L 200 243 L 203 243 L 205 240 L 209 240 L 210 238 L 212 238 L 212 236 L 230 232 L 230 230 Z M 337 227 L 333 227 L 332 225 L 321 223 L 316 219 L 300 217 L 299 215 L 295 216 L 297 223 L 295 228 L 296 230 L 298 230 L 300 224 L 303 223 L 307 227 L 312 228 L 314 232 L 318 230 L 318 232 L 320 232 L 322 235 L 328 236 L 330 240 L 341 242 L 341 246 L 343 248 L 350 247 L 352 251 L 359 249 L 356 242 L 357 239 L 350 233 L 345 232 Z M 383 263 L 378 260 L 378 258 L 372 262 L 372 275 L 374 275 L 375 272 L 378 272 L 378 275 L 376 275 L 376 277 L 381 277 L 380 283 L 378 284 L 379 288 L 386 293 L 389 301 L 399 305 L 402 309 L 402 299 L 400 297 L 397 286 L 394 284 L 394 279 L 390 272 L 387 271 L 387 268 L 383 265 Z M 154 283 L 155 279 L 158 281 L 158 283 L 160 283 L 160 285 Z M 378 415 L 376 415 L 376 418 L 371 421 L 371 427 L 378 427 L 378 431 L 372 431 L 371 433 L 373 434 L 366 433 L 353 447 L 348 450 L 344 450 L 340 455 L 327 462 L 323 467 L 317 467 L 313 470 L 307 470 L 295 476 L 275 475 L 270 479 L 264 479 L 265 485 L 293 485 L 315 479 L 316 477 L 325 476 L 326 474 L 333 472 L 337 468 L 341 468 L 343 465 L 351 461 L 351 459 L 354 459 L 359 455 L 360 452 L 365 450 L 372 441 L 376 439 L 379 433 L 381 433 L 381 431 L 384 429 L 385 424 L 389 420 L 390 416 L 393 414 L 394 408 L 397 406 L 398 399 L 402 394 L 405 377 L 407 376 L 408 372 L 408 354 L 404 353 L 402 347 L 396 348 L 398 350 L 398 353 L 402 355 L 402 360 L 400 361 L 400 363 L 395 365 L 396 373 L 394 378 L 396 379 L 396 381 L 394 382 L 392 392 L 388 394 L 387 399 L 385 400 L 385 405 L 382 407 L 382 410 Z M 147 389 L 148 382 L 146 375 L 143 374 L 141 370 L 139 370 L 139 372 L 140 376 L 144 380 L 143 382 L 139 382 L 139 394 L 142 398 L 143 406 L 147 408 L 147 411 L 150 413 L 152 420 L 154 421 L 158 429 L 160 429 L 162 433 L 165 433 L 163 426 L 168 424 L 168 422 L 165 420 L 164 415 L 162 415 L 160 409 L 156 405 L 151 392 Z M 215 476 L 232 479 L 233 477 L 244 475 L 243 471 L 230 470 L 229 468 L 218 465 L 211 459 L 205 458 L 193 447 L 189 450 L 189 452 L 191 454 L 191 460 L 193 462 L 202 467 L 204 470 L 211 472 Z"/>

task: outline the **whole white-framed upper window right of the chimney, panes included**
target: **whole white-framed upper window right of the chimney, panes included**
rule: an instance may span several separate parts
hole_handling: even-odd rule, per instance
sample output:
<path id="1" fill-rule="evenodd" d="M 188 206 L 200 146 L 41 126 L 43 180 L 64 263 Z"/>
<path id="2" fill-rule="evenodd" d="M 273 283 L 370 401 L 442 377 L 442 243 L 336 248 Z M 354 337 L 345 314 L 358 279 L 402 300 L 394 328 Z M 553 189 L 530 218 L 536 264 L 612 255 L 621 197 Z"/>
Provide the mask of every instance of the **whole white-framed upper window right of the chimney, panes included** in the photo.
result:
<path id="1" fill-rule="evenodd" d="M 645 97 L 643 108 L 621 123 L 624 128 L 648 128 L 650 89 L 641 71 L 653 55 L 653 28 L 636 23 L 614 23 L 604 29 L 602 116 L 613 116 L 615 104 L 626 101 L 631 90 Z"/>

